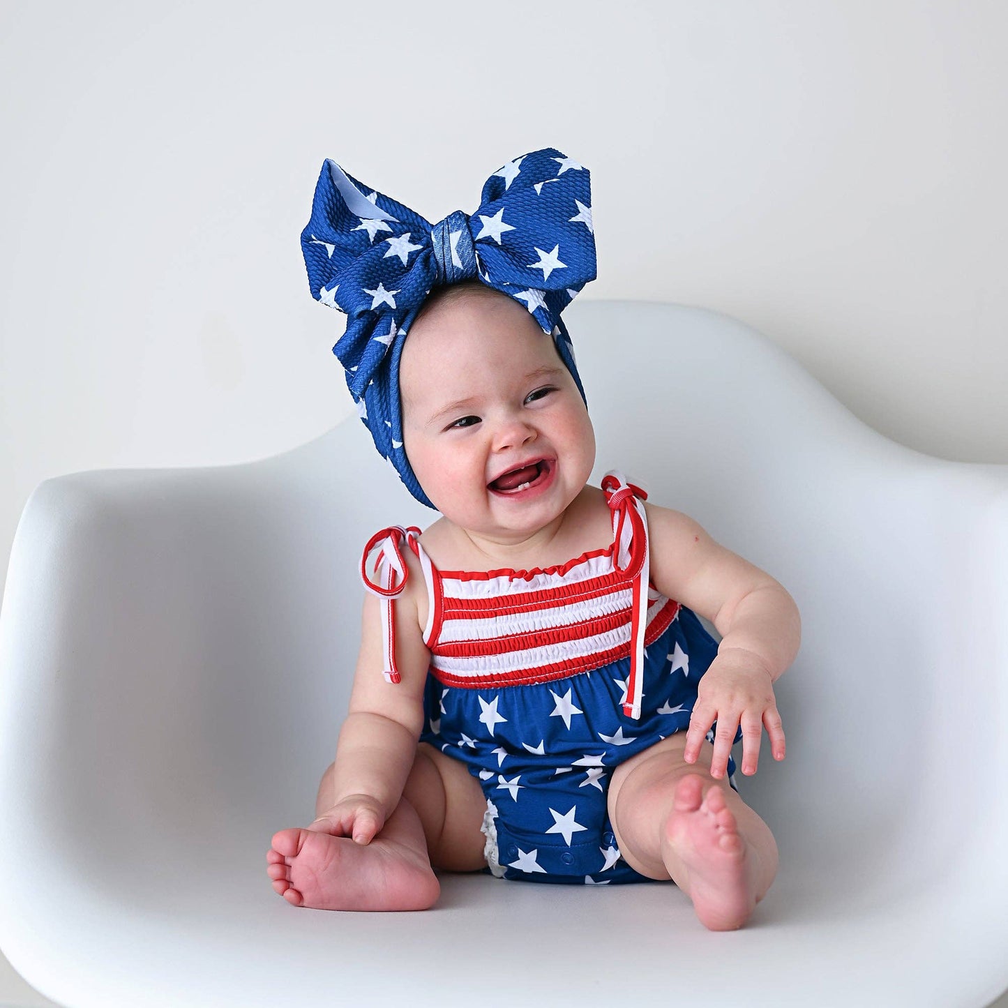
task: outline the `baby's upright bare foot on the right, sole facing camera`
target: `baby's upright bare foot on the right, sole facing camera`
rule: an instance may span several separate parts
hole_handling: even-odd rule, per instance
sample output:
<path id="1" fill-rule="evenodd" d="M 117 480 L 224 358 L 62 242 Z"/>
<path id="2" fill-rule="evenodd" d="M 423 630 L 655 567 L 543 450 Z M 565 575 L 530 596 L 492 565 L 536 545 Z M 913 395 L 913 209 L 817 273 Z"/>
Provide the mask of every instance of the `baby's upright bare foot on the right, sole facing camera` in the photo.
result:
<path id="1" fill-rule="evenodd" d="M 734 930 L 749 919 L 756 905 L 752 855 L 721 787 L 712 785 L 707 794 L 703 789 L 703 778 L 696 773 L 686 774 L 676 785 L 662 835 L 662 860 L 669 874 L 671 863 L 679 878 L 684 869 L 682 888 L 707 927 Z"/>

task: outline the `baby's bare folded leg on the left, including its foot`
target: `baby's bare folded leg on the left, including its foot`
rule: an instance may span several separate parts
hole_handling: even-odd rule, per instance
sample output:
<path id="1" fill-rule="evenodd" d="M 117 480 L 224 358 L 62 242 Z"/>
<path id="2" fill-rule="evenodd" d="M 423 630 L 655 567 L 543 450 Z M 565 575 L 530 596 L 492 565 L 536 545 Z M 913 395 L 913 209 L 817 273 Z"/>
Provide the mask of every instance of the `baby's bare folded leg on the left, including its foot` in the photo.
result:
<path id="1" fill-rule="evenodd" d="M 443 761 L 449 764 L 444 771 Z M 472 787 L 462 786 L 467 781 L 456 770 Z M 319 787 L 317 815 L 333 804 L 332 774 L 330 766 Z M 281 830 L 266 855 L 267 874 L 274 890 L 295 906 L 427 909 L 440 893 L 428 846 L 438 867 L 472 871 L 485 865 L 479 830 L 485 807 L 480 786 L 469 771 L 421 743 L 399 804 L 370 844 L 312 830 Z"/>

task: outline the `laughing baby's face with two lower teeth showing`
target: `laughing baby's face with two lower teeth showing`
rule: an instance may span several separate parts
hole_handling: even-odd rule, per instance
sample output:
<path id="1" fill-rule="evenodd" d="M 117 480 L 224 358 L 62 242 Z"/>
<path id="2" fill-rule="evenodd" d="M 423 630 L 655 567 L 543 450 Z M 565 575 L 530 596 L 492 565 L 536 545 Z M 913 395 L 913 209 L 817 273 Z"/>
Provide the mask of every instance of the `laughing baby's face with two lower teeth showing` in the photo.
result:
<path id="1" fill-rule="evenodd" d="M 588 482 L 595 433 L 578 386 L 552 337 L 507 295 L 444 301 L 414 324 L 399 390 L 409 464 L 465 529 L 520 541 Z"/>

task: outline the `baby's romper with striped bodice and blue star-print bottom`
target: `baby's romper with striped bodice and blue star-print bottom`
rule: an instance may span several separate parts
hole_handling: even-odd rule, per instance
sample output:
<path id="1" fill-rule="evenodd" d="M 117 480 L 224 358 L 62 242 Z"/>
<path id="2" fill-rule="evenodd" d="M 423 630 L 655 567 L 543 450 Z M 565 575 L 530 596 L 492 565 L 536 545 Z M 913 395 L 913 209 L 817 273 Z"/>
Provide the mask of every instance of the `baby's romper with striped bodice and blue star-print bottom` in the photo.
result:
<path id="1" fill-rule="evenodd" d="M 382 604 L 389 682 L 400 678 L 391 600 L 408 570 L 399 541 L 420 560 L 430 666 L 418 741 L 461 760 L 479 780 L 487 799 L 482 871 L 500 878 L 659 881 L 621 857 L 607 809 L 609 780 L 624 760 L 688 727 L 718 644 L 692 610 L 650 583 L 647 495 L 616 470 L 602 489 L 613 543 L 562 564 L 438 571 L 415 526 L 377 532 L 361 560 L 365 586 Z M 379 546 L 382 584 L 366 570 Z M 733 744 L 741 738 L 740 727 Z M 735 768 L 729 756 L 728 781 L 738 790 Z"/>

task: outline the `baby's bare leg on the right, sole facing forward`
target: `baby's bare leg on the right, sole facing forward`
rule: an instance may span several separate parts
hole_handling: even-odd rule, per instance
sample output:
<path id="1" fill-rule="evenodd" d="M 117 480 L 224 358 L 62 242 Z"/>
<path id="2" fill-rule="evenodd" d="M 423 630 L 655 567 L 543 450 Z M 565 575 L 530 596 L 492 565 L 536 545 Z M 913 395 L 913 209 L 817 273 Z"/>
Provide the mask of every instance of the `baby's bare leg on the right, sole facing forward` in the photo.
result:
<path id="1" fill-rule="evenodd" d="M 777 873 L 769 827 L 725 779 L 711 776 L 714 747 L 682 758 L 676 732 L 613 772 L 608 808 L 620 853 L 631 868 L 671 878 L 712 930 L 741 927 Z"/>

